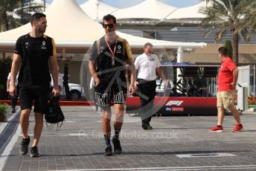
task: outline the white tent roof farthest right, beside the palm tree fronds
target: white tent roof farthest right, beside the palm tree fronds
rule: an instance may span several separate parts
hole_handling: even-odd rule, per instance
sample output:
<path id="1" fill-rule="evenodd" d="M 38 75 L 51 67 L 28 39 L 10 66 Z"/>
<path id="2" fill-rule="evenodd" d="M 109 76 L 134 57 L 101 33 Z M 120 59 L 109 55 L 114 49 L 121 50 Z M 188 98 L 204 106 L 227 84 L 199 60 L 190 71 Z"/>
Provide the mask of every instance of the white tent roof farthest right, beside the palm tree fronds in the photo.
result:
<path id="1" fill-rule="evenodd" d="M 182 7 L 179 8 L 173 13 L 170 13 L 166 19 L 202 19 L 205 18 L 205 15 L 199 13 L 199 8 L 205 6 L 205 1 L 202 1 L 199 4 L 193 5 L 191 7 Z"/>

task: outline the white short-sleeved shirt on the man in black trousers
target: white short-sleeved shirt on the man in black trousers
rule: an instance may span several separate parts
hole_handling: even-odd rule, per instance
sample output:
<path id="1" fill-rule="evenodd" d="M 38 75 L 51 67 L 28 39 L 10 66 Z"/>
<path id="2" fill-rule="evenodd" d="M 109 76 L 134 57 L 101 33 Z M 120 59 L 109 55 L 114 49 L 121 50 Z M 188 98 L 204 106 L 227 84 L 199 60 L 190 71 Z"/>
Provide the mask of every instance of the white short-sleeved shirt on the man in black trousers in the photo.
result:
<path id="1" fill-rule="evenodd" d="M 156 80 L 156 68 L 161 66 L 155 54 L 151 54 L 151 59 L 149 59 L 145 53 L 135 59 L 134 65 L 138 70 L 138 79 L 147 81 Z"/>

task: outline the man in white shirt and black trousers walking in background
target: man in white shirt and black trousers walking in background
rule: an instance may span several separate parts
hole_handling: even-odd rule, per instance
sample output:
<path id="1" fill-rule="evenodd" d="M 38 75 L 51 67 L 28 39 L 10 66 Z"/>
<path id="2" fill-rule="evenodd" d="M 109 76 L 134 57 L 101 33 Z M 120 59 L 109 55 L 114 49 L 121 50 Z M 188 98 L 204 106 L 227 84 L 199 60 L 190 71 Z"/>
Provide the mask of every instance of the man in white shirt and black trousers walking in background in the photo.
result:
<path id="1" fill-rule="evenodd" d="M 144 54 L 135 59 L 135 68 L 138 71 L 135 89 L 141 93 L 141 126 L 145 130 L 153 129 L 150 126 L 150 120 L 153 115 L 153 103 L 156 95 L 156 73 L 164 80 L 164 83 L 167 83 L 160 66 L 159 58 L 153 54 L 153 45 L 147 42 L 144 45 Z"/>

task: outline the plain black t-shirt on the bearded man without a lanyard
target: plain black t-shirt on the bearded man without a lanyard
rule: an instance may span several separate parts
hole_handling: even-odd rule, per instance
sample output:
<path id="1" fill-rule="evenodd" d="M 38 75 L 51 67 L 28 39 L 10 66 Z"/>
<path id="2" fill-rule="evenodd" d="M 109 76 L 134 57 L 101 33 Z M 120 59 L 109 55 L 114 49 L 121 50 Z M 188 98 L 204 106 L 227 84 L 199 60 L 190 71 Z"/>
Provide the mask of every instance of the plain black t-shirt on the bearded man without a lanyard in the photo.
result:
<path id="1" fill-rule="evenodd" d="M 19 86 L 46 87 L 50 85 L 51 75 L 48 61 L 50 57 L 56 55 L 54 39 L 45 35 L 34 38 L 28 33 L 17 39 L 14 53 L 22 57 Z"/>

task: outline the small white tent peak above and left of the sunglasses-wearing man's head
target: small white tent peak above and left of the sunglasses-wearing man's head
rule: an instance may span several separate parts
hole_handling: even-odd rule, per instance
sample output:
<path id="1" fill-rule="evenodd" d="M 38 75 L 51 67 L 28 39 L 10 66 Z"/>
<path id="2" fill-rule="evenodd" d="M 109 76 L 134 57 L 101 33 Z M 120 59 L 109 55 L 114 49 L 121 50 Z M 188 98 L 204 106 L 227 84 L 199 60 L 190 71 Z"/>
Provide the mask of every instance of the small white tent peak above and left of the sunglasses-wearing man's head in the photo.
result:
<path id="1" fill-rule="evenodd" d="M 88 16 L 96 21 L 98 21 L 98 19 L 102 19 L 106 14 L 113 13 L 115 10 L 118 10 L 118 8 L 112 7 L 100 0 L 86 1 L 81 4 L 80 7 Z"/>

